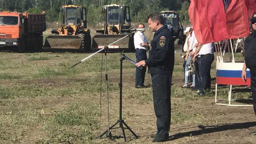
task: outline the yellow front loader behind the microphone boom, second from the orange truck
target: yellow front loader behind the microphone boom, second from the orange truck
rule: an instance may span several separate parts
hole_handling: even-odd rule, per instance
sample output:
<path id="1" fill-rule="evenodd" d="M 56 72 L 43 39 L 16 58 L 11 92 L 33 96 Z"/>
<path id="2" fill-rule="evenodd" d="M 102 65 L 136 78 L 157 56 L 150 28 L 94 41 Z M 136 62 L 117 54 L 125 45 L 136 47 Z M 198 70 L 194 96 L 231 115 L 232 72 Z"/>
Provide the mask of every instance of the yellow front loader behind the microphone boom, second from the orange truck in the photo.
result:
<path id="1" fill-rule="evenodd" d="M 96 35 L 92 40 L 92 48 L 104 48 L 111 42 L 124 37 L 131 32 L 131 18 L 129 7 L 125 5 L 111 4 L 103 6 L 105 16 L 104 26 L 100 30 L 96 30 Z M 134 35 L 130 35 L 125 39 L 110 46 L 110 50 L 134 50 Z"/>

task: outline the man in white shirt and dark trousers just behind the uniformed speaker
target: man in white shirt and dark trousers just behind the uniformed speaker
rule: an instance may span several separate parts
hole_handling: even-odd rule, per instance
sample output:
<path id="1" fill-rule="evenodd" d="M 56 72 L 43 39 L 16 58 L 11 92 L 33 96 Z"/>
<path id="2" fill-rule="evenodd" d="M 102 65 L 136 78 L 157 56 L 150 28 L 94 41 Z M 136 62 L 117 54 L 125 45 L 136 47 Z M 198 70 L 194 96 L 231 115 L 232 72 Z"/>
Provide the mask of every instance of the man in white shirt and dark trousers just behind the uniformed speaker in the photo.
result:
<path id="1" fill-rule="evenodd" d="M 144 24 L 139 24 L 138 28 L 145 28 Z M 150 45 L 147 43 L 147 39 L 143 32 L 137 31 L 134 35 L 134 46 L 135 46 L 135 54 L 136 54 L 136 62 L 146 60 L 147 59 L 147 50 Z M 136 76 L 135 76 L 135 88 L 147 88 L 144 85 L 146 74 L 146 66 L 136 67 Z"/>

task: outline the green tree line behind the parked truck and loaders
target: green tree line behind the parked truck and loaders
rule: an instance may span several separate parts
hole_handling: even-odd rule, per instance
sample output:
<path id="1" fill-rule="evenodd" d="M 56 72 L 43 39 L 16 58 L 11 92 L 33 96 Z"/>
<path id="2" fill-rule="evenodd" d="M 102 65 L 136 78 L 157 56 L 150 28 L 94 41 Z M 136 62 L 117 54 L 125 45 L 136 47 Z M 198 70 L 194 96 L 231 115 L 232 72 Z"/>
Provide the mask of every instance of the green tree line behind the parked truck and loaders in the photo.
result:
<path id="1" fill-rule="evenodd" d="M 46 21 L 60 21 L 60 7 L 70 0 L 0 0 L 0 11 L 17 11 L 29 13 L 46 12 Z M 132 22 L 146 22 L 152 12 L 175 10 L 181 21 L 188 21 L 190 0 L 72 0 L 75 5 L 86 7 L 87 21 L 95 25 L 102 21 L 102 6 L 107 4 L 125 4 L 130 7 Z"/>

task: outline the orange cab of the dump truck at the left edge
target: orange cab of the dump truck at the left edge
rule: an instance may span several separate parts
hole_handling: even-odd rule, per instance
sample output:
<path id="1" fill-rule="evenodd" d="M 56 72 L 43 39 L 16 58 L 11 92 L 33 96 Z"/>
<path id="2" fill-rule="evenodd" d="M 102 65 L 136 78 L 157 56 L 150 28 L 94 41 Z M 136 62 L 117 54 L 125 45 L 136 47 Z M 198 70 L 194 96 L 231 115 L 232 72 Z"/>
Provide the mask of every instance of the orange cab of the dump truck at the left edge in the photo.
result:
<path id="1" fill-rule="evenodd" d="M 20 12 L 0 12 L 0 47 L 18 46 L 24 33 L 24 17 Z"/>

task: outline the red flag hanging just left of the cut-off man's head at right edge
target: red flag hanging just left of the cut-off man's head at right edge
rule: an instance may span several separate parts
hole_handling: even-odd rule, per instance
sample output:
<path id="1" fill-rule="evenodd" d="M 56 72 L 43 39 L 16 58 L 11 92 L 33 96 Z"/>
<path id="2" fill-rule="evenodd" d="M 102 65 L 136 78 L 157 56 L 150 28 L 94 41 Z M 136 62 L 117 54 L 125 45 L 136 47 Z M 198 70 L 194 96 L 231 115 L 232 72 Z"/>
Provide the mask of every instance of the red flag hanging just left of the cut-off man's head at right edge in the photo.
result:
<path id="1" fill-rule="evenodd" d="M 250 34 L 245 0 L 232 0 L 226 12 L 226 19 L 229 39 L 246 37 Z"/>

